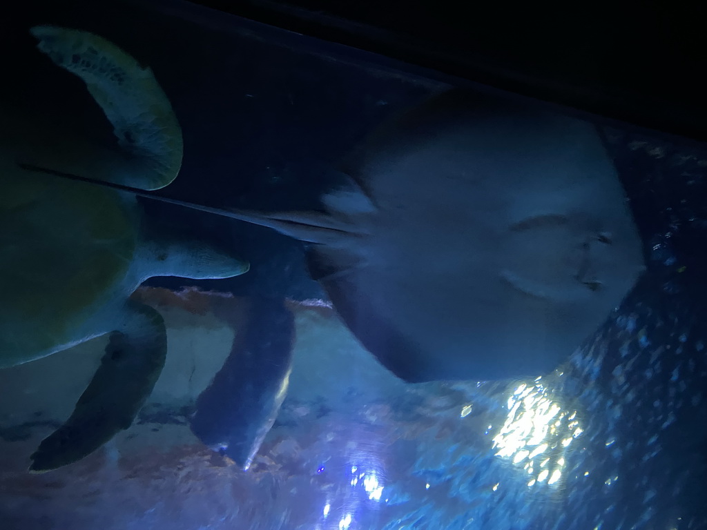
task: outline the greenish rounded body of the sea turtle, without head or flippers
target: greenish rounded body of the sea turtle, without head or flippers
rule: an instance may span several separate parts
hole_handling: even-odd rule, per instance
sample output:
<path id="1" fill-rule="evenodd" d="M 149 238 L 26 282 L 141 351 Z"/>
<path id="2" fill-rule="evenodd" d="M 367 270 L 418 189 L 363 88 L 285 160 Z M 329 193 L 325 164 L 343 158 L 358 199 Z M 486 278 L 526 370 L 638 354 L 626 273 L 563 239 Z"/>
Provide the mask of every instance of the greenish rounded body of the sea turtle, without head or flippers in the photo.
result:
<path id="1" fill-rule="evenodd" d="M 18 167 L 4 170 L 0 366 L 86 338 L 77 334 L 120 288 L 139 228 L 134 199 Z"/>

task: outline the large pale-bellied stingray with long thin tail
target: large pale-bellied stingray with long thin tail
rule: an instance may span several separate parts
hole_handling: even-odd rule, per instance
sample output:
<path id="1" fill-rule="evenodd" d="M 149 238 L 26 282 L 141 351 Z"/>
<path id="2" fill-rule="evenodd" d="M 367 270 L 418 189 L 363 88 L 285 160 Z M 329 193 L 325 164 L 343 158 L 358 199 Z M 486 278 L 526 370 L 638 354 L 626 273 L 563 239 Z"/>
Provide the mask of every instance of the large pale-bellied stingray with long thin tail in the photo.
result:
<path id="1" fill-rule="evenodd" d="M 590 122 L 452 90 L 382 124 L 341 167 L 347 182 L 322 196 L 322 211 L 130 191 L 310 243 L 311 276 L 341 319 L 409 382 L 554 370 L 645 268 Z"/>

